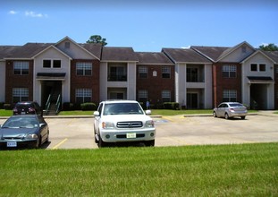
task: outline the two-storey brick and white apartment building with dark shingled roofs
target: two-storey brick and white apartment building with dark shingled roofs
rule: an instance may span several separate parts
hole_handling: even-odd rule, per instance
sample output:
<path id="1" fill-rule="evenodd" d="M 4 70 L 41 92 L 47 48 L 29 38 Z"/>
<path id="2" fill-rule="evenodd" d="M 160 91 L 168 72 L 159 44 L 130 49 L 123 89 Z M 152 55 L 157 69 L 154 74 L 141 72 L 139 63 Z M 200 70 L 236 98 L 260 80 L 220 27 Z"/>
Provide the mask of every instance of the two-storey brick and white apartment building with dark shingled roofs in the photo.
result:
<path id="1" fill-rule="evenodd" d="M 278 108 L 278 52 L 235 47 L 162 48 L 56 43 L 0 46 L 0 102 L 99 102 L 136 99 L 153 105 L 212 108 L 222 101 Z M 60 106 L 61 107 L 61 106 Z"/>

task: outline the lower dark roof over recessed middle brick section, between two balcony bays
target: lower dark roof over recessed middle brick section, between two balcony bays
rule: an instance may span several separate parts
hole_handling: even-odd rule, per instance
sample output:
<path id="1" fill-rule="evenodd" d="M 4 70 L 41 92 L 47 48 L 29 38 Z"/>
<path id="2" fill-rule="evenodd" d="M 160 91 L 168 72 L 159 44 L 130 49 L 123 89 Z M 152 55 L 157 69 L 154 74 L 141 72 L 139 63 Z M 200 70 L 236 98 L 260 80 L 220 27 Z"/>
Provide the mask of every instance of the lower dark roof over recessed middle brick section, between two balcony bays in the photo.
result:
<path id="1" fill-rule="evenodd" d="M 173 64 L 173 62 L 162 52 L 135 52 L 139 59 L 138 64 Z"/>

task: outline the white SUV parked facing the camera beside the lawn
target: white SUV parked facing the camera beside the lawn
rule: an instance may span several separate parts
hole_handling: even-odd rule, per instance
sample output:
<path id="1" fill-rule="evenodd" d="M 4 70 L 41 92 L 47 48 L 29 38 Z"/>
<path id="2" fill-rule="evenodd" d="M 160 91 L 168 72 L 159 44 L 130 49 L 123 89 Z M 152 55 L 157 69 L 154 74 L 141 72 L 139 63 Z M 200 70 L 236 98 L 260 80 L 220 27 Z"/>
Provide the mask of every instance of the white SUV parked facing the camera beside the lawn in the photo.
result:
<path id="1" fill-rule="evenodd" d="M 141 141 L 155 145 L 156 127 L 150 115 L 134 100 L 107 100 L 94 112 L 95 141 L 99 148 L 109 142 Z"/>

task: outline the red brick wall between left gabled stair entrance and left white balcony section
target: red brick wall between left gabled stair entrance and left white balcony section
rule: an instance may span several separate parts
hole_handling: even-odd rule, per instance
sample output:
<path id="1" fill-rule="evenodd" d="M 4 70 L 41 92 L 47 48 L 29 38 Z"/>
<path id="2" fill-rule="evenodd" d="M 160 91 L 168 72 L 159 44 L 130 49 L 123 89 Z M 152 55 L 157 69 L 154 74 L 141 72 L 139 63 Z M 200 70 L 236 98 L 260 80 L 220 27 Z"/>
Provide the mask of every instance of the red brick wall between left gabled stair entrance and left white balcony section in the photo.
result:
<path id="1" fill-rule="evenodd" d="M 78 76 L 76 74 L 77 62 L 90 62 L 92 66 L 91 76 Z M 71 102 L 75 103 L 76 89 L 90 89 L 92 90 L 92 102 L 99 102 L 99 60 L 79 60 L 74 59 L 71 62 Z"/>

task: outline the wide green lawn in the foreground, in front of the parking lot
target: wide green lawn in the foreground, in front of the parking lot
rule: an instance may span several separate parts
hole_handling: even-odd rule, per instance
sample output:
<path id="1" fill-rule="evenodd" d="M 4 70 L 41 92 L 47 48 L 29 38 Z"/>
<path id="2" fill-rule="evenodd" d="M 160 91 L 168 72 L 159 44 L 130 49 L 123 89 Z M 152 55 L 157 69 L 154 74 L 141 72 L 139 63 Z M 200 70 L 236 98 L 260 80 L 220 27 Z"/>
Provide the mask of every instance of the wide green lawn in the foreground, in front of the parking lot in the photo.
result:
<path id="1" fill-rule="evenodd" d="M 277 196 L 278 143 L 0 151 L 0 196 Z"/>

